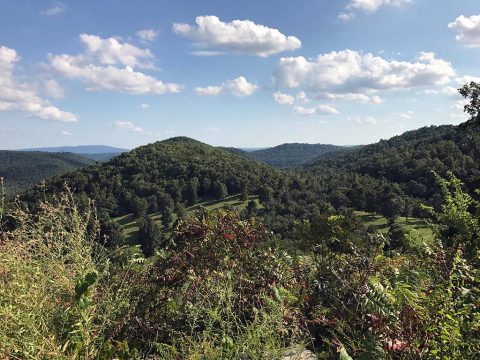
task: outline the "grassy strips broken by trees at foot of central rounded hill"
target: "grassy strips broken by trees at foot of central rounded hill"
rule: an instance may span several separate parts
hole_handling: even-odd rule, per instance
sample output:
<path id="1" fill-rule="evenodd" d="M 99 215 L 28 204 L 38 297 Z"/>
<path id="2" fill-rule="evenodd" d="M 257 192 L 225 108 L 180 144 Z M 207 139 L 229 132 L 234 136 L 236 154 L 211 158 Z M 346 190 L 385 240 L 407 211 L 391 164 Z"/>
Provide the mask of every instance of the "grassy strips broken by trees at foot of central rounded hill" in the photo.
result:
<path id="1" fill-rule="evenodd" d="M 247 201 L 240 200 L 240 194 L 231 195 L 226 197 L 223 200 L 211 200 L 206 199 L 194 206 L 187 207 L 187 214 L 193 214 L 196 210 L 200 208 L 205 208 L 208 211 L 217 210 L 223 207 L 231 207 L 236 209 L 237 211 L 242 211 L 247 207 L 247 204 L 250 200 L 255 201 L 257 204 L 257 209 L 262 209 L 263 205 L 258 200 L 258 196 L 249 196 Z M 161 213 L 153 213 L 149 214 L 149 216 L 155 220 L 155 222 L 161 224 L 162 214 Z M 135 235 L 138 232 L 137 221 L 133 214 L 124 215 L 114 219 L 123 227 L 123 231 L 127 237 L 127 240 L 133 240 Z M 173 222 L 177 220 L 177 214 L 173 214 Z"/>

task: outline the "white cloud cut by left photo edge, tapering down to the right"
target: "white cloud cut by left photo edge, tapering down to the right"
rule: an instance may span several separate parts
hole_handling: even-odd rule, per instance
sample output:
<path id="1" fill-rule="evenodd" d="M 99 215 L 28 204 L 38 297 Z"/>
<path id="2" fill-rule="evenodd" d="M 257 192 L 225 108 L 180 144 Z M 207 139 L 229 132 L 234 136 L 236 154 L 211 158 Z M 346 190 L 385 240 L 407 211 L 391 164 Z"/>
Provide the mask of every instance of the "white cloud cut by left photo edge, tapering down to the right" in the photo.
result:
<path id="1" fill-rule="evenodd" d="M 0 111 L 21 110 L 42 119 L 77 121 L 77 115 L 62 111 L 40 98 L 33 85 L 15 79 L 13 70 L 18 60 L 14 49 L 0 46 Z"/>

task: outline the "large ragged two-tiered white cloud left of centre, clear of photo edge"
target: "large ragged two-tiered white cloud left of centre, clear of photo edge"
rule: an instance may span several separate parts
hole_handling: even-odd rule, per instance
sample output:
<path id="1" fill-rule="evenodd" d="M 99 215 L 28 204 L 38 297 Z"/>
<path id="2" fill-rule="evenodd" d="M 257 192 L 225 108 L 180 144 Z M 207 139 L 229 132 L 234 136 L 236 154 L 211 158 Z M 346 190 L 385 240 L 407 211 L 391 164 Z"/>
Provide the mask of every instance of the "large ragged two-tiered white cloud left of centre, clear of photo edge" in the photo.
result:
<path id="1" fill-rule="evenodd" d="M 163 83 L 152 76 L 134 70 L 149 68 L 153 56 L 148 49 L 140 49 L 115 38 L 81 34 L 85 52 L 73 55 L 50 55 L 50 65 L 59 74 L 85 82 L 87 90 L 114 90 L 129 94 L 177 93 L 182 86 Z"/>

